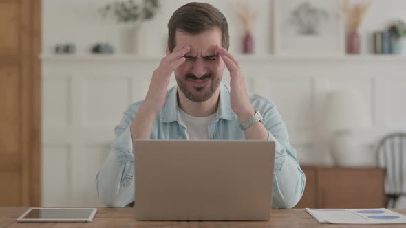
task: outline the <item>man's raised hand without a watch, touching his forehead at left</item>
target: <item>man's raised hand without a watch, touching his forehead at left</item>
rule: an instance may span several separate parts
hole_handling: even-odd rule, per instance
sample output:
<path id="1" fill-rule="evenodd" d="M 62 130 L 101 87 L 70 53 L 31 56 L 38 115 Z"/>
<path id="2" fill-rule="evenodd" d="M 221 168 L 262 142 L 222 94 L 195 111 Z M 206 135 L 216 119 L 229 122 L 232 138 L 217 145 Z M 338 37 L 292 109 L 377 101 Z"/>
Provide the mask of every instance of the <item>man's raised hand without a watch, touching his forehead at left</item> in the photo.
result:
<path id="1" fill-rule="evenodd" d="M 146 108 L 155 114 L 164 106 L 172 72 L 186 61 L 184 55 L 189 49 L 189 46 L 185 46 L 162 58 L 159 67 L 153 71 L 151 84 L 142 106 L 147 106 Z"/>

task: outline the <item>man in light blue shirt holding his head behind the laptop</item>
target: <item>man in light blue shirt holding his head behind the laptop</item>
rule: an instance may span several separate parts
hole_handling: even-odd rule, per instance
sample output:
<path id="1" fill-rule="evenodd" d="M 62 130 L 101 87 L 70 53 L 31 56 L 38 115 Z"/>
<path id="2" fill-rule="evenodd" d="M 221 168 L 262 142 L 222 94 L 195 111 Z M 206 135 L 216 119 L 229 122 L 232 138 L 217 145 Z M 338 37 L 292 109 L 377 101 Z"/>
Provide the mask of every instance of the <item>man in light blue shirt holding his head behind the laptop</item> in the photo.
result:
<path id="1" fill-rule="evenodd" d="M 153 71 L 145 100 L 129 106 L 115 128 L 111 152 L 96 176 L 98 196 L 109 207 L 133 203 L 136 139 L 257 139 L 276 144 L 273 206 L 294 207 L 306 177 L 275 105 L 247 93 L 228 52 L 224 15 L 209 4 L 189 3 L 173 13 L 168 29 L 167 56 Z M 225 68 L 230 88 L 221 83 Z M 172 72 L 178 87 L 167 91 Z"/>

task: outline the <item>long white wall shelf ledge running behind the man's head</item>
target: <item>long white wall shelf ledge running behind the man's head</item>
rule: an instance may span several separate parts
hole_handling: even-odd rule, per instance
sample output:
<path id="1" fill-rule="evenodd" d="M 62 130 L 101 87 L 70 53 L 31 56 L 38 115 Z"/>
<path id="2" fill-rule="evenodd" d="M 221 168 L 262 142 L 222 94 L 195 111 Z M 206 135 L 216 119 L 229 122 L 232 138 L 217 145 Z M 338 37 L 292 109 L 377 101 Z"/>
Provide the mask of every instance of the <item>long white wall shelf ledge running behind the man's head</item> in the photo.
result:
<path id="1" fill-rule="evenodd" d="M 158 62 L 164 56 L 140 56 L 133 54 L 41 54 L 43 61 L 153 61 Z M 275 61 L 405 61 L 405 56 L 398 55 L 343 55 L 343 56 L 275 56 L 269 55 L 235 55 L 243 62 L 275 62 Z"/>

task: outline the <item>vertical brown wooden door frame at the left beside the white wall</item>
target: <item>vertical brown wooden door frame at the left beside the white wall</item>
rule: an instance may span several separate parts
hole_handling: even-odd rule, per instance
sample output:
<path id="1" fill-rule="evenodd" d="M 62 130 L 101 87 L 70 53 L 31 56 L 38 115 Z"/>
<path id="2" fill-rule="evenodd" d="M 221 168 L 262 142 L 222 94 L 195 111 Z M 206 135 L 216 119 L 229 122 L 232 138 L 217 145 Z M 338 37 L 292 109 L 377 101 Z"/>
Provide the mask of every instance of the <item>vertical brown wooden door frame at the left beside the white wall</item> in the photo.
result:
<path id="1" fill-rule="evenodd" d="M 41 0 L 21 0 L 21 205 L 41 206 Z"/>

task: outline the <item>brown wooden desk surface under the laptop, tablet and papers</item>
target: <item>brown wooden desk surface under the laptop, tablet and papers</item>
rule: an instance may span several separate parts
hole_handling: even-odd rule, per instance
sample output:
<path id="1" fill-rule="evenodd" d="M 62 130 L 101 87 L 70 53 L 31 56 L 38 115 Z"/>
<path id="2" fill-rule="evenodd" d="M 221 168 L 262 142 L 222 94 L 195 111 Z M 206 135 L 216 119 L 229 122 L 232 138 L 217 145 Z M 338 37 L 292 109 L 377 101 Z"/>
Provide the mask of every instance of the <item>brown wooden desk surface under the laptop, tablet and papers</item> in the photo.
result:
<path id="1" fill-rule="evenodd" d="M 100 208 L 92 223 L 17 223 L 16 219 L 28 207 L 0 207 L 0 227 L 371 227 L 371 225 L 332 225 L 314 220 L 304 209 L 273 209 L 270 220 L 265 222 L 147 222 L 133 220 L 133 208 Z M 406 214 L 406 209 L 394 211 Z M 378 225 L 378 227 L 405 227 Z"/>

